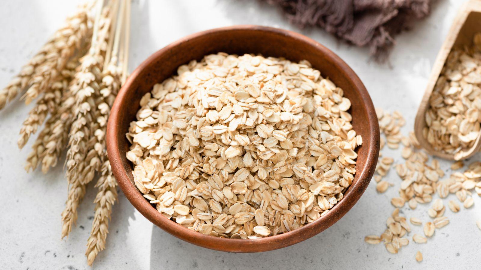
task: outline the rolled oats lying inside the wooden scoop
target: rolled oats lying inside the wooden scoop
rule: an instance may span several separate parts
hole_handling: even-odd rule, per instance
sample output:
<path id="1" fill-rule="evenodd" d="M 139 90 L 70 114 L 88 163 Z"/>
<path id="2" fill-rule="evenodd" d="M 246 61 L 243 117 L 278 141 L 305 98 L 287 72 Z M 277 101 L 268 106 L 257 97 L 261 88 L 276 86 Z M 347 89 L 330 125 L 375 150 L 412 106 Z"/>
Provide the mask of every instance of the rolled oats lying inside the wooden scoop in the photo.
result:
<path id="1" fill-rule="evenodd" d="M 453 49 L 429 99 L 423 136 L 437 151 L 455 155 L 474 145 L 481 122 L 481 33 L 474 46 Z"/>

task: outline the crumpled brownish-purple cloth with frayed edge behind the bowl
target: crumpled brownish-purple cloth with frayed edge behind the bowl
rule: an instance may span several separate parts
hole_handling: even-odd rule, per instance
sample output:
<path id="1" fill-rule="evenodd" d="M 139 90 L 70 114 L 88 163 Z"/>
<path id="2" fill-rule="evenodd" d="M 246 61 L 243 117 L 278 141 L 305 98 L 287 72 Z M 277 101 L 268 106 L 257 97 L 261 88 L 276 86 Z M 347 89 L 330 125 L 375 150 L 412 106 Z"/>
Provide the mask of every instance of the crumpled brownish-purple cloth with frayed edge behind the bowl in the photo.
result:
<path id="1" fill-rule="evenodd" d="M 279 5 L 294 25 L 319 26 L 386 60 L 394 36 L 429 15 L 434 0 L 262 0 Z"/>

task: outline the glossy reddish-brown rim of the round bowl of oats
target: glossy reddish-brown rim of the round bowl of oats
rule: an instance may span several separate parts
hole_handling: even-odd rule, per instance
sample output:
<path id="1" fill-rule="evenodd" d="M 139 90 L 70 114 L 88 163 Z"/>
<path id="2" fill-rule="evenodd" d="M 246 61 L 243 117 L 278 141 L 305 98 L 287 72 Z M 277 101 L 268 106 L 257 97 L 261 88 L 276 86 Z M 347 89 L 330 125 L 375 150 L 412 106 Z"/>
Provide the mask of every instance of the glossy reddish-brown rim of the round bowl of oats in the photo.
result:
<path id="1" fill-rule="evenodd" d="M 264 31 L 270 33 L 276 33 L 283 36 L 288 36 L 298 41 L 307 43 L 310 46 L 316 47 L 316 49 L 321 50 L 327 58 L 330 58 L 333 62 L 337 63 L 346 75 L 352 80 L 353 85 L 357 88 L 358 94 L 362 99 L 362 103 L 365 105 L 367 110 L 367 116 L 370 121 L 367 121 L 367 128 L 371 131 L 368 138 L 363 138 L 363 140 L 369 141 L 369 147 L 367 149 L 366 162 L 364 167 L 360 172 L 356 172 L 359 178 L 353 183 L 349 188 L 354 189 L 356 192 L 350 192 L 343 197 L 326 215 L 313 221 L 301 228 L 292 230 L 288 233 L 281 233 L 275 236 L 269 236 L 261 239 L 229 239 L 220 238 L 209 235 L 204 235 L 192 230 L 189 230 L 175 221 L 171 221 L 160 214 L 138 191 L 137 187 L 130 182 L 128 178 L 127 171 L 122 165 L 121 151 L 119 149 L 119 141 L 117 140 L 117 124 L 120 123 L 119 111 L 122 109 L 121 105 L 127 102 L 126 93 L 131 90 L 131 85 L 137 79 L 142 70 L 149 66 L 152 62 L 165 53 L 169 52 L 170 48 L 173 48 L 181 43 L 188 42 L 190 39 L 201 37 L 204 35 L 210 35 L 219 32 L 229 32 L 229 31 Z M 376 111 L 372 103 L 371 98 L 367 92 L 366 87 L 361 82 L 359 77 L 354 73 L 354 71 L 347 65 L 342 59 L 337 56 L 334 52 L 327 49 L 317 41 L 306 37 L 302 34 L 295 33 L 289 30 L 273 28 L 268 26 L 259 25 L 234 25 L 228 27 L 214 28 L 195 34 L 191 34 L 187 37 L 183 37 L 164 48 L 154 52 L 145 61 L 143 61 L 127 78 L 126 83 L 120 89 L 115 101 L 112 106 L 111 114 L 107 124 L 107 152 L 114 173 L 115 179 L 117 180 L 123 193 L 130 201 L 130 203 L 137 209 L 144 217 L 146 217 L 153 224 L 162 228 L 167 233 L 176 236 L 179 239 L 187 241 L 194 245 L 200 245 L 210 249 L 228 251 L 228 252 L 261 252 L 269 251 L 289 245 L 293 245 L 302 242 L 317 233 L 329 228 L 335 222 L 342 218 L 359 200 L 361 195 L 367 188 L 374 170 L 376 168 L 379 146 L 380 146 L 380 134 L 379 125 L 377 121 L 372 121 L 372 119 L 377 120 Z M 124 153 L 125 154 L 125 153 Z"/>

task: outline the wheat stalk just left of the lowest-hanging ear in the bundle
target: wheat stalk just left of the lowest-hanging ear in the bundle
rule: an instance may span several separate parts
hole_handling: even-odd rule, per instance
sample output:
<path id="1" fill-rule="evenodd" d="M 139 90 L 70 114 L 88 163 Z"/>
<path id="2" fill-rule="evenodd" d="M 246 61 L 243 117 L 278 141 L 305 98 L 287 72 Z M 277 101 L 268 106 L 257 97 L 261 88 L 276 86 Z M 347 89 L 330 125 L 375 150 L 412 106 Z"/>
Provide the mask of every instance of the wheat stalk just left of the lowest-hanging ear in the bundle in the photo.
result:
<path id="1" fill-rule="evenodd" d="M 100 3 L 102 4 L 102 1 Z M 82 68 L 75 76 L 76 83 L 71 87 L 72 95 L 76 99 L 72 109 L 75 120 L 72 123 L 67 150 L 66 176 L 70 186 L 66 207 L 62 213 L 62 238 L 70 233 L 72 224 L 77 219 L 77 207 L 85 195 L 86 185 L 101 167 L 101 160 L 95 152 L 95 136 L 92 135 L 98 129 L 95 121 L 95 98 L 100 93 L 101 68 L 107 49 L 110 22 L 110 6 L 106 6 L 96 18 L 99 29 L 94 28 L 92 48 L 82 59 Z"/>

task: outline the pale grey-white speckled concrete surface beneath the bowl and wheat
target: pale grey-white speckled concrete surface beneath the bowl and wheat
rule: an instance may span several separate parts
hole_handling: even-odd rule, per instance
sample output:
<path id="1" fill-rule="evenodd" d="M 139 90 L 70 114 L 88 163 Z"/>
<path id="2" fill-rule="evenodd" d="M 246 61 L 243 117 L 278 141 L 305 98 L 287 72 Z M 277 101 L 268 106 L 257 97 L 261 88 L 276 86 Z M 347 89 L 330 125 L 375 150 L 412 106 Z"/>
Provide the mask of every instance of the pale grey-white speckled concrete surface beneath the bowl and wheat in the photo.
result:
<path id="1" fill-rule="evenodd" d="M 0 1 L 0 85 L 4 86 L 62 25 L 67 14 L 82 0 Z M 412 130 L 430 68 L 462 0 L 440 0 L 432 15 L 402 34 L 390 64 L 369 61 L 368 50 L 339 43 L 319 29 L 300 30 L 288 24 L 275 8 L 255 0 L 135 0 L 132 4 L 132 71 L 152 52 L 186 35 L 227 25 L 256 24 L 304 33 L 333 50 L 346 61 L 367 89 L 376 106 L 400 110 L 407 120 L 403 133 Z M 76 228 L 67 241 L 60 240 L 60 214 L 67 195 L 61 166 L 48 175 L 27 174 L 23 166 L 32 141 L 19 151 L 16 146 L 21 123 L 31 106 L 15 101 L 0 111 L 0 268 L 88 269 L 85 244 L 93 218 L 91 188 L 80 208 Z M 386 156 L 402 161 L 398 154 Z M 472 158 L 474 160 L 475 158 Z M 477 156 L 479 159 L 479 156 Z M 59 162 L 62 163 L 62 162 Z M 448 163 L 443 162 L 449 173 Z M 427 244 L 411 243 L 399 254 L 383 245 L 368 245 L 367 234 L 380 234 L 394 209 L 389 201 L 397 195 L 400 180 L 379 195 L 371 183 L 364 196 L 340 221 L 323 233 L 297 245 L 256 254 L 234 254 L 188 244 L 147 221 L 120 193 L 114 207 L 107 249 L 95 261 L 96 269 L 479 269 L 481 200 L 456 215 L 446 210 L 451 223 L 436 231 Z M 450 199 L 455 198 L 450 196 Z M 447 204 L 447 201 L 446 201 Z M 404 209 L 410 216 L 429 220 L 426 210 Z M 456 216 L 456 218 L 455 218 Z M 414 232 L 421 228 L 412 226 Z M 409 234 L 410 240 L 412 233 Z M 417 263 L 416 251 L 424 255 Z"/>

